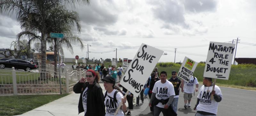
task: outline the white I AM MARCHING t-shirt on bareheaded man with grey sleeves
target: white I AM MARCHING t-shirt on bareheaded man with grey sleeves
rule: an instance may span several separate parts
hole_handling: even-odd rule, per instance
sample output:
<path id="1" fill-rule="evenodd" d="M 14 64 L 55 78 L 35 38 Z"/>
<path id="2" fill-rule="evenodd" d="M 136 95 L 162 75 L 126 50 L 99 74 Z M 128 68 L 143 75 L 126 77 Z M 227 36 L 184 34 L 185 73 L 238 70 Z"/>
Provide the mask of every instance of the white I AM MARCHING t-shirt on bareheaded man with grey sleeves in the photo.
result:
<path id="1" fill-rule="evenodd" d="M 173 85 L 168 80 L 165 83 L 161 83 L 161 80 L 156 81 L 152 92 L 156 93 L 156 99 L 168 99 L 175 95 Z M 156 106 L 164 108 L 164 105 L 160 102 Z"/>

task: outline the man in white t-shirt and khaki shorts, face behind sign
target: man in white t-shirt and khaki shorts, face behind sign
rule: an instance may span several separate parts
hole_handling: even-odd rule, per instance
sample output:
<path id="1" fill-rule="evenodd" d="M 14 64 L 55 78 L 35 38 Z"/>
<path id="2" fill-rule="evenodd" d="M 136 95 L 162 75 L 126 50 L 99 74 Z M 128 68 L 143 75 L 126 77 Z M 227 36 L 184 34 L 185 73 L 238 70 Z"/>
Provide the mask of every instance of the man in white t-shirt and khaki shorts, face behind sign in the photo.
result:
<path id="1" fill-rule="evenodd" d="M 181 83 L 184 83 L 184 80 L 181 81 Z M 197 78 L 194 76 L 191 76 L 188 82 L 185 81 L 184 87 L 181 88 L 181 92 L 184 92 L 184 108 L 187 109 L 187 106 L 190 107 L 190 101 L 192 98 L 192 94 L 194 92 L 194 85 L 196 85 L 196 92 L 198 91 L 198 81 Z M 195 95 L 195 94 L 194 94 Z M 188 102 L 188 104 L 187 104 Z"/>

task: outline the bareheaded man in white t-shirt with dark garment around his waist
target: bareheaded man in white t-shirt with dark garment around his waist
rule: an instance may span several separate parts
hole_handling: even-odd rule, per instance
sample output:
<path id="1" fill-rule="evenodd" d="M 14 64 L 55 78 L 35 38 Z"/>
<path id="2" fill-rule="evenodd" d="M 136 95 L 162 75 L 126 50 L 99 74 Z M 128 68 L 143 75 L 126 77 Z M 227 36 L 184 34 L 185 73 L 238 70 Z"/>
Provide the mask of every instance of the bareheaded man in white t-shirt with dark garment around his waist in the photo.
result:
<path id="1" fill-rule="evenodd" d="M 161 72 L 160 80 L 155 83 L 152 91 L 149 106 L 151 107 L 154 104 L 154 116 L 159 116 L 161 112 L 164 116 L 172 115 L 172 113 L 176 114 L 170 106 L 175 95 L 174 88 L 172 83 L 167 81 L 166 78 L 167 73 Z"/>

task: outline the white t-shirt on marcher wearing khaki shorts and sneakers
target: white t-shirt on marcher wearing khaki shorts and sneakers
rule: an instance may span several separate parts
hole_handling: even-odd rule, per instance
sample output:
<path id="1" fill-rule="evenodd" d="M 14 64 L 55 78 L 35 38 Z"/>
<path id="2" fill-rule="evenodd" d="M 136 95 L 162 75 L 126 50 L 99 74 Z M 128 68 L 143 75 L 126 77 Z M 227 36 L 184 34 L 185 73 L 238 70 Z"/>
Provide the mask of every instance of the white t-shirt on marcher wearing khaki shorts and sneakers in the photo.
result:
<path id="1" fill-rule="evenodd" d="M 198 84 L 197 78 L 193 76 L 191 76 L 191 78 L 189 79 L 189 82 L 184 81 L 184 92 L 186 93 L 193 93 L 194 92 L 194 85 Z"/>

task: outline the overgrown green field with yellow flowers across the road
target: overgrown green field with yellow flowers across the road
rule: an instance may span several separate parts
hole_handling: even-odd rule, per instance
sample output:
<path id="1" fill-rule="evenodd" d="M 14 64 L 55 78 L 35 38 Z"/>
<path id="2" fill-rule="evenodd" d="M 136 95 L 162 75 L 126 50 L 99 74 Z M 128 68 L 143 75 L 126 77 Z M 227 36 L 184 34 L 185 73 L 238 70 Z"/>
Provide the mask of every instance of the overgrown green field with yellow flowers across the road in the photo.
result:
<path id="1" fill-rule="evenodd" d="M 171 77 L 172 71 L 178 72 L 180 70 L 179 65 L 163 67 L 163 65 L 160 66 L 160 63 L 158 63 L 157 67 L 159 72 L 166 71 L 168 78 Z M 196 67 L 196 70 L 193 76 L 195 76 L 198 79 L 198 81 L 202 82 L 203 75 L 204 75 L 204 64 L 199 64 Z M 232 65 L 229 79 L 228 80 L 217 79 L 216 83 L 221 85 L 226 85 L 226 86 L 233 85 L 233 87 L 234 85 L 245 86 L 245 87 L 256 87 L 256 65 Z"/>

